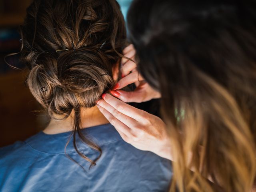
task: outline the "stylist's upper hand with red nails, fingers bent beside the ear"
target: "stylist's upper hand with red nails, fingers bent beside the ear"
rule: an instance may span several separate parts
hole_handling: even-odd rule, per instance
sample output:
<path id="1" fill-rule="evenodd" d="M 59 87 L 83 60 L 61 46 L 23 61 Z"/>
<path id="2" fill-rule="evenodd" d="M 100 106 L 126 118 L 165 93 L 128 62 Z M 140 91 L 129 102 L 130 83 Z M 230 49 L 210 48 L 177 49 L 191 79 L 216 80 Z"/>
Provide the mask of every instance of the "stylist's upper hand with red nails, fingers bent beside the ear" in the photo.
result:
<path id="1" fill-rule="evenodd" d="M 135 60 L 136 51 L 134 46 L 130 44 L 123 51 L 124 56 Z M 149 86 L 149 84 L 144 81 L 142 76 L 137 71 L 137 64 L 133 61 L 130 61 L 126 58 L 122 58 L 122 79 L 116 84 L 114 91 L 111 91 L 111 94 L 121 99 L 124 102 L 145 102 L 154 98 L 160 98 L 161 95 L 159 92 L 154 90 Z M 120 90 L 125 86 L 135 83 L 136 89 L 132 92 L 126 92 Z"/>

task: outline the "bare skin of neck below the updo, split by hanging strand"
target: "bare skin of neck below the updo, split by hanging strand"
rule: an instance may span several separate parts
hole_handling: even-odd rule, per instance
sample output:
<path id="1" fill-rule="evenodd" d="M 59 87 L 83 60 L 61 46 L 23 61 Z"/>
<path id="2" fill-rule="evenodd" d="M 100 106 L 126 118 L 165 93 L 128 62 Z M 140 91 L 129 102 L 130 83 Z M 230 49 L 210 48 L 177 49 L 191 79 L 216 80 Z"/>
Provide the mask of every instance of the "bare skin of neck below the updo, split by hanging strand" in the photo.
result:
<path id="1" fill-rule="evenodd" d="M 48 126 L 43 130 L 43 132 L 46 134 L 58 134 L 72 131 L 74 126 L 74 110 L 72 110 L 68 118 L 63 119 L 63 117 L 64 116 L 55 114 L 54 118 L 60 120 L 52 118 Z M 81 128 L 88 128 L 108 123 L 108 120 L 104 117 L 104 115 L 98 110 L 96 106 L 92 108 L 81 109 Z"/>

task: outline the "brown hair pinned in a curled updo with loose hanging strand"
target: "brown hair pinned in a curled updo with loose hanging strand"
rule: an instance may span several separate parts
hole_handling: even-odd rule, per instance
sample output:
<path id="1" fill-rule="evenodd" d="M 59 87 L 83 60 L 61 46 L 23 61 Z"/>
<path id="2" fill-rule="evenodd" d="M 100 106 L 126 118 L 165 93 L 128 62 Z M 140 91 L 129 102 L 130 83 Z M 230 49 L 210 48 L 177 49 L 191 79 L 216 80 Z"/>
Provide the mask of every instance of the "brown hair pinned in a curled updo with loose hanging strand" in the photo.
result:
<path id="1" fill-rule="evenodd" d="M 126 41 L 120 6 L 116 0 L 34 0 L 20 33 L 30 91 L 52 118 L 74 111 L 74 147 L 95 165 L 101 149 L 82 134 L 80 110 L 114 86 L 112 69 Z M 78 150 L 76 134 L 98 158 Z"/>

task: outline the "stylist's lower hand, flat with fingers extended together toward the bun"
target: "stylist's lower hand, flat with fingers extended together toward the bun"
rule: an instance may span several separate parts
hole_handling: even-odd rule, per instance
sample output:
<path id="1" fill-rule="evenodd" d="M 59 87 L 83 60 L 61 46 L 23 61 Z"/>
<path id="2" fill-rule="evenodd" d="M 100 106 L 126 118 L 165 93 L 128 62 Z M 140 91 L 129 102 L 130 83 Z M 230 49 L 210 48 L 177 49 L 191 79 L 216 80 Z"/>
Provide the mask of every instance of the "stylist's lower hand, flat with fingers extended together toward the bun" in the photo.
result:
<path id="1" fill-rule="evenodd" d="M 164 122 L 143 110 L 134 108 L 110 94 L 103 94 L 97 106 L 116 128 L 124 141 L 172 160 L 170 138 Z"/>

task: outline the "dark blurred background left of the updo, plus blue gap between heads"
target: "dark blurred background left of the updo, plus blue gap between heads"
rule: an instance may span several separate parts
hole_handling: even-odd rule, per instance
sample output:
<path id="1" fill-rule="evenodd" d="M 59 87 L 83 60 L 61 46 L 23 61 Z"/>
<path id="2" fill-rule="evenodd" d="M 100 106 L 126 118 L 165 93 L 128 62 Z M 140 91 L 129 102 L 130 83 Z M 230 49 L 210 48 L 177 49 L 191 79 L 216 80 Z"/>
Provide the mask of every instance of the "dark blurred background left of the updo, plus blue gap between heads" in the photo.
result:
<path id="1" fill-rule="evenodd" d="M 26 70 L 14 70 L 4 57 L 20 50 L 19 26 L 32 0 L 0 0 L 0 147 L 16 140 L 25 140 L 42 130 L 47 118 L 42 108 L 25 86 Z M 132 0 L 118 0 L 126 17 Z M 22 68 L 18 55 L 6 58 L 8 63 Z"/>

